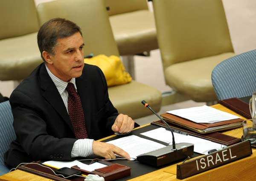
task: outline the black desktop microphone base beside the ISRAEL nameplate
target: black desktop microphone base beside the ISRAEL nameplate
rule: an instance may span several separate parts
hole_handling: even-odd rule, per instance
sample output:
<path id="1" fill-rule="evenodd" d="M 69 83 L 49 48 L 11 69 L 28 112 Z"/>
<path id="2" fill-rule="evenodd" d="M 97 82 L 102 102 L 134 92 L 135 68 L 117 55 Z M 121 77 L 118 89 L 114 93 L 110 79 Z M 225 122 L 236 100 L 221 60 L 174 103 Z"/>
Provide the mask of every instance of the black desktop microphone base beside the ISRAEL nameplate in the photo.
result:
<path id="1" fill-rule="evenodd" d="M 176 150 L 172 150 L 172 145 L 157 149 L 137 156 L 137 161 L 153 167 L 160 167 L 181 159 L 185 159 L 194 153 L 194 144 L 178 143 L 175 144 Z"/>

